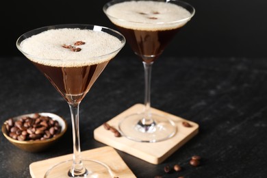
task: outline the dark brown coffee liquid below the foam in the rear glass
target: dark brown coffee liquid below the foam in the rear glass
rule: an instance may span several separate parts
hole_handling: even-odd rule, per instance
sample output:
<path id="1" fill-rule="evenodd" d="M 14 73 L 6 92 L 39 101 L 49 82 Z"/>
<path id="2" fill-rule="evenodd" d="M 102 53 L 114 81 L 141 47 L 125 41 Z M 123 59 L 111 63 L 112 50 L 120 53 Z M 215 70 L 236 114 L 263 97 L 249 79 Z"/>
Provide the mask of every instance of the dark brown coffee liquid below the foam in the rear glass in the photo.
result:
<path id="1" fill-rule="evenodd" d="M 180 29 L 147 31 L 127 29 L 118 25 L 116 27 L 125 36 L 131 49 L 139 55 L 144 62 L 153 62 L 156 60 Z"/>

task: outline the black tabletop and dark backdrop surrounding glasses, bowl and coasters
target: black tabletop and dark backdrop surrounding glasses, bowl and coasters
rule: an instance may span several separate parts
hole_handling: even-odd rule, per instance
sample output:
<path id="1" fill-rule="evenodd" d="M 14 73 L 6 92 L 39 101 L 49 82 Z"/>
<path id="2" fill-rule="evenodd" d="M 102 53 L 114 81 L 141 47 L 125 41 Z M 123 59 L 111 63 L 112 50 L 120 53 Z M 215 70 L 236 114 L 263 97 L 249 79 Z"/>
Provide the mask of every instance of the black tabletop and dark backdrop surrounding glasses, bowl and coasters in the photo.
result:
<path id="1" fill-rule="evenodd" d="M 102 10 L 106 2 L 2 1 L 1 123 L 19 114 L 53 112 L 71 125 L 68 106 L 16 49 L 16 39 L 31 29 L 63 23 L 114 28 Z M 199 134 L 159 165 L 118 153 L 138 178 L 177 177 L 164 173 L 164 166 L 177 162 L 186 178 L 266 178 L 267 1 L 188 2 L 194 5 L 196 14 L 166 48 L 164 60 L 153 64 L 151 97 L 153 107 L 199 123 Z M 16 55 L 19 57 L 13 57 Z M 84 99 L 81 118 L 96 121 L 82 119 L 81 151 L 103 146 L 93 140 L 94 128 L 142 103 L 143 68 L 135 59 L 125 45 Z M 72 153 L 70 137 L 68 129 L 55 147 L 31 154 L 16 149 L 0 134 L 0 177 L 29 177 L 32 162 Z M 188 165 L 193 154 L 203 157 L 198 168 Z"/>

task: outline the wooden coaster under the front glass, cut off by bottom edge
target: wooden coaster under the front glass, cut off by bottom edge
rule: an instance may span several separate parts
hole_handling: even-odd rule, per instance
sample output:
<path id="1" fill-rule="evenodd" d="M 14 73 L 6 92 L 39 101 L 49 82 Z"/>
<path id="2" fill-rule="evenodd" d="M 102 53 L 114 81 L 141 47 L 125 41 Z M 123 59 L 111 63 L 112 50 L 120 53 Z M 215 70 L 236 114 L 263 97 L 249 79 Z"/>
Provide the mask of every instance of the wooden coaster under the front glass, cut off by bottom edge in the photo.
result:
<path id="1" fill-rule="evenodd" d="M 100 147 L 88 151 L 82 151 L 81 156 L 87 160 L 97 160 L 110 167 L 113 177 L 136 177 L 125 164 L 120 155 L 112 147 Z M 29 165 L 29 172 L 32 178 L 44 177 L 49 168 L 60 162 L 73 159 L 73 154 L 53 157 L 48 160 L 33 162 Z"/>

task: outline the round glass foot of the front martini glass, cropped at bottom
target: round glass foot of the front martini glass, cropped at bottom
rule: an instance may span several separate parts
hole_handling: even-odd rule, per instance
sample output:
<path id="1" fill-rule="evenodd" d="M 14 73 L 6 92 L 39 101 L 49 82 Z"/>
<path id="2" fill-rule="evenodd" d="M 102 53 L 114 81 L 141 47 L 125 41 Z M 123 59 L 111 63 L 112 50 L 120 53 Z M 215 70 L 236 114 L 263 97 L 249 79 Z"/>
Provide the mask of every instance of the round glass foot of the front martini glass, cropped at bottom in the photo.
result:
<path id="1" fill-rule="evenodd" d="M 82 175 L 72 176 L 70 173 L 70 168 L 73 164 L 73 160 L 67 160 L 66 162 L 60 162 L 56 164 L 44 175 L 44 178 L 64 178 L 64 177 L 94 177 L 94 178 L 102 178 L 102 177 L 110 177 L 113 178 L 112 170 L 110 168 L 96 160 L 82 160 L 84 167 L 86 168 L 86 172 Z"/>

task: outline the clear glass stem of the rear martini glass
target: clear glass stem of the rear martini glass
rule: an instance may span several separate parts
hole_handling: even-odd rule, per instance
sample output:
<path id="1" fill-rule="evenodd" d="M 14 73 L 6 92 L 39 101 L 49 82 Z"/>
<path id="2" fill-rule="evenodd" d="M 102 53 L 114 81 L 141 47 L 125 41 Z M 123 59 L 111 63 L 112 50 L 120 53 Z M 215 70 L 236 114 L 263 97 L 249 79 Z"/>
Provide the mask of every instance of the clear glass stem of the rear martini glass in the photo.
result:
<path id="1" fill-rule="evenodd" d="M 151 118 L 151 71 L 153 62 L 143 62 L 144 64 L 144 117 L 141 120 L 142 125 L 151 126 L 154 122 Z"/>

